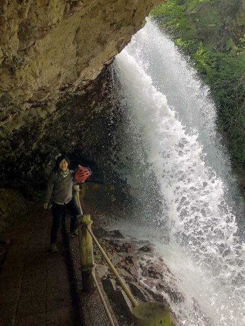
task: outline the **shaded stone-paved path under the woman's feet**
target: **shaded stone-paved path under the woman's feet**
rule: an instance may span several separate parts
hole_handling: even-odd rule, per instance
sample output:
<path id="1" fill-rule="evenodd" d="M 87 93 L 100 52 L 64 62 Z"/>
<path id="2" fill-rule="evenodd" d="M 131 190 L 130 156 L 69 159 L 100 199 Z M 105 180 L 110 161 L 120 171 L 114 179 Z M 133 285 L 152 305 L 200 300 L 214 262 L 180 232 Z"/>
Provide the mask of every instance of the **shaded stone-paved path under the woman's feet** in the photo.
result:
<path id="1" fill-rule="evenodd" d="M 59 252 L 48 251 L 51 221 L 51 212 L 40 208 L 0 236 L 10 241 L 0 274 L 1 326 L 81 325 L 72 305 L 61 230 Z"/>

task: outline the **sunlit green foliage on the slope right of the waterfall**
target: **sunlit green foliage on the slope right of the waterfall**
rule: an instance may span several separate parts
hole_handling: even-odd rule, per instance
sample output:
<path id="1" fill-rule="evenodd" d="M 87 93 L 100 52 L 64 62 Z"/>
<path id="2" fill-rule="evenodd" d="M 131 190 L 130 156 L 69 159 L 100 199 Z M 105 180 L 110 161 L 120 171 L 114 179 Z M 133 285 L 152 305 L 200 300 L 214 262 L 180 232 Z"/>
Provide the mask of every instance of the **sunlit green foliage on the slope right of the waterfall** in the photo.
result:
<path id="1" fill-rule="evenodd" d="M 165 0 L 150 13 L 150 17 L 174 40 L 182 52 L 191 57 L 195 69 L 210 86 L 234 166 L 244 172 L 245 35 L 237 44 L 230 36 L 225 46 L 218 48 L 211 35 L 213 32 L 217 33 L 218 29 L 212 22 L 212 17 L 197 16 L 197 21 L 192 20 L 201 3 L 217 6 L 221 2 L 222 0 L 186 0 L 181 5 L 178 0 Z"/>

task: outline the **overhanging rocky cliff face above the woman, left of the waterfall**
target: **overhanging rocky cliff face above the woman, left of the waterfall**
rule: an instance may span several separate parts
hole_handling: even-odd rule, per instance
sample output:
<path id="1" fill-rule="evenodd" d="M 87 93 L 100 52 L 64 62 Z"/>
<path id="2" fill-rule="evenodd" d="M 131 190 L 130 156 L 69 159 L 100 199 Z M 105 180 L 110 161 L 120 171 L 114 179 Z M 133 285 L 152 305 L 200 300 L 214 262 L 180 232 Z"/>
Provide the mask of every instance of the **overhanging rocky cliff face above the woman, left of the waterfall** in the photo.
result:
<path id="1" fill-rule="evenodd" d="M 98 76 L 159 3 L 0 1 L 2 178 L 33 176 L 61 151 L 96 160 L 107 95 Z"/>

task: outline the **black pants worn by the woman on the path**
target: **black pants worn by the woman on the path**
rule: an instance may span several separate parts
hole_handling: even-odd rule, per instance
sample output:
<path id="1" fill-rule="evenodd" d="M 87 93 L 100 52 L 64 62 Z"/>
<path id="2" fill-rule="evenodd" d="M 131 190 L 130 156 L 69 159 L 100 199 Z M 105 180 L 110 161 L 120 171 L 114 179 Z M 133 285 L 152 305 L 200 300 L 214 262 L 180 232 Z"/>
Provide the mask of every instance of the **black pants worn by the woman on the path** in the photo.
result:
<path id="1" fill-rule="evenodd" d="M 74 198 L 72 198 L 71 201 L 64 205 L 59 205 L 55 202 L 52 202 L 53 225 L 51 228 L 51 243 L 56 243 L 57 241 L 57 232 L 60 226 L 60 221 L 66 209 L 70 211 L 70 232 L 72 233 L 77 229 L 76 221 L 77 215 L 80 214 L 80 210 Z"/>

